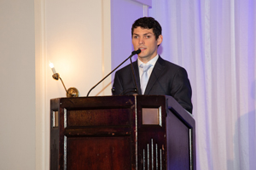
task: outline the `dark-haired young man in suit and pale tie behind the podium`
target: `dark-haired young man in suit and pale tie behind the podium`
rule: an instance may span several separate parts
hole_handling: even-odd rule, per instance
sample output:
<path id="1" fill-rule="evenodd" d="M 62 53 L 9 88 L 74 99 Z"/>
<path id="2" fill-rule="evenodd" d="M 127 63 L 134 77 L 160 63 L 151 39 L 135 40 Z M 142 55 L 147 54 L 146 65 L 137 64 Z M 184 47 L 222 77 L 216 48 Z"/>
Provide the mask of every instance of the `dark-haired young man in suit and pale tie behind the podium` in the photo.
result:
<path id="1" fill-rule="evenodd" d="M 141 53 L 137 54 L 137 61 L 132 63 L 137 77 L 138 94 L 170 95 L 192 113 L 192 90 L 187 71 L 162 59 L 157 53 L 163 41 L 161 30 L 158 21 L 152 17 L 140 18 L 131 27 L 133 48 L 141 49 Z M 116 71 L 113 95 L 134 94 L 135 87 L 131 65 Z"/>

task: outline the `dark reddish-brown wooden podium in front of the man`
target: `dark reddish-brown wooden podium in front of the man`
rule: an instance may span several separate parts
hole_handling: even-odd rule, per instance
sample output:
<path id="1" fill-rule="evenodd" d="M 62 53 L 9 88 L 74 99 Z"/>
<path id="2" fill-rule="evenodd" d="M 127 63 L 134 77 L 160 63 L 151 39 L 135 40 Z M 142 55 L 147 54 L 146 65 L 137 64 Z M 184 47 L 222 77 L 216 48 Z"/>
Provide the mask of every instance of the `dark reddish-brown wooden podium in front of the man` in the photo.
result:
<path id="1" fill-rule="evenodd" d="M 50 100 L 51 170 L 195 168 L 195 120 L 170 96 Z"/>

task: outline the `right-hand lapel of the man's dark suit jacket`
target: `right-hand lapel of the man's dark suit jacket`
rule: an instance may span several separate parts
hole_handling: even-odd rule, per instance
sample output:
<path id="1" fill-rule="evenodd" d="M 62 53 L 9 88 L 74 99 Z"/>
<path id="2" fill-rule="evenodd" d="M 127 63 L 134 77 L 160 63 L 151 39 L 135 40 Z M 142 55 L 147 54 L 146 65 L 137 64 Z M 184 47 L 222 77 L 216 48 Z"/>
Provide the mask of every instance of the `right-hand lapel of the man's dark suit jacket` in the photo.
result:
<path id="1" fill-rule="evenodd" d="M 154 69 L 149 77 L 147 87 L 145 89 L 144 94 L 149 94 L 151 88 L 153 87 L 154 83 L 157 81 L 157 79 L 160 77 L 163 71 L 165 71 L 166 65 L 165 65 L 165 60 L 160 58 L 157 59 Z"/>

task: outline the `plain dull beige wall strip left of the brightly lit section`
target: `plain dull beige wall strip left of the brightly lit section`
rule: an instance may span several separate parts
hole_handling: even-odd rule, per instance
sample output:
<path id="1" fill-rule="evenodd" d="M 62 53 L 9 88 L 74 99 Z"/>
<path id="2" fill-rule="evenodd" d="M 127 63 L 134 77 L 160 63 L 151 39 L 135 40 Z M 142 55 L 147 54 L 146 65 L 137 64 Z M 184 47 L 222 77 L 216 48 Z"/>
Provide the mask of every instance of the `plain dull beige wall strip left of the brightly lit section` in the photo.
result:
<path id="1" fill-rule="evenodd" d="M 34 170 L 34 1 L 1 0 L 0 23 L 0 169 Z"/>

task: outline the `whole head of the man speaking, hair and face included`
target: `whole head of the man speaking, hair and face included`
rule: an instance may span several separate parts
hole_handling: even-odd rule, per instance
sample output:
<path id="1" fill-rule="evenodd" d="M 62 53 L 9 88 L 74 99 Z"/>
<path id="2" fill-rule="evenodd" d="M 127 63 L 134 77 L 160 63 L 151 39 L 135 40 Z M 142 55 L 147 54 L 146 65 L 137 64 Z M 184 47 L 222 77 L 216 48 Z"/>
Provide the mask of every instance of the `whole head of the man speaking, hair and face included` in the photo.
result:
<path id="1" fill-rule="evenodd" d="M 157 55 L 157 48 L 163 41 L 160 24 L 151 17 L 143 17 L 134 22 L 131 28 L 134 50 L 141 49 L 138 59 L 148 63 Z"/>

